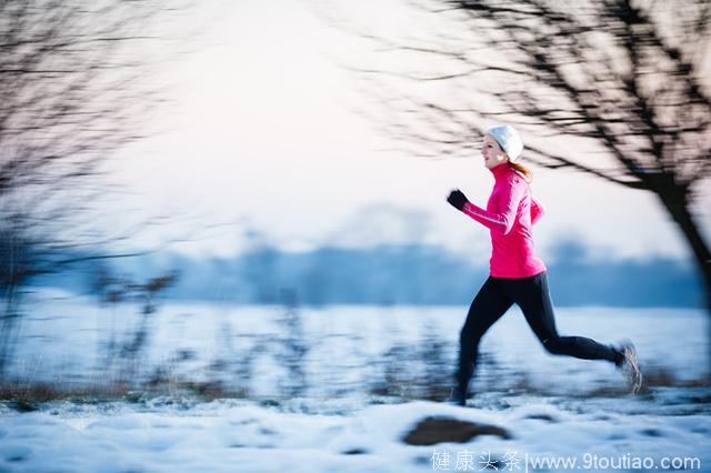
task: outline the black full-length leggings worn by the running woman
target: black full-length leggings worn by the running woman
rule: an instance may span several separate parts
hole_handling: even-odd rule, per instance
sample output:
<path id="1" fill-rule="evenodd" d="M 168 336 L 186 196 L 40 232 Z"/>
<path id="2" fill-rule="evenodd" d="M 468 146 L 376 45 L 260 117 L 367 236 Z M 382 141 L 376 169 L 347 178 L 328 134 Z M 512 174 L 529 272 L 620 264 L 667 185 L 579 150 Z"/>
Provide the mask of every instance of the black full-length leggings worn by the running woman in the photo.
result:
<path id="1" fill-rule="evenodd" d="M 518 304 L 535 336 L 552 354 L 619 363 L 621 352 L 584 336 L 560 336 L 555 330 L 553 304 L 548 291 L 548 274 L 509 279 L 489 276 L 469 308 L 460 336 L 459 395 L 465 399 L 479 351 L 479 341 L 495 321 Z"/>

